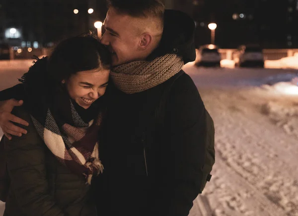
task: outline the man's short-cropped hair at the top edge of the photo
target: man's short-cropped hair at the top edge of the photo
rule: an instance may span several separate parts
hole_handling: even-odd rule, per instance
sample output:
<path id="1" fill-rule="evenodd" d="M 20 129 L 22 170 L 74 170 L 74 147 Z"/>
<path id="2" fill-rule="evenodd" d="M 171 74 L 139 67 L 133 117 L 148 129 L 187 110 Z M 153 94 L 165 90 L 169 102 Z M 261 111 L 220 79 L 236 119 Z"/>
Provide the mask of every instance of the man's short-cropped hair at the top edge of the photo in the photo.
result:
<path id="1" fill-rule="evenodd" d="M 164 5 L 160 0 L 107 0 L 107 6 L 133 17 L 158 18 L 163 24 Z"/>

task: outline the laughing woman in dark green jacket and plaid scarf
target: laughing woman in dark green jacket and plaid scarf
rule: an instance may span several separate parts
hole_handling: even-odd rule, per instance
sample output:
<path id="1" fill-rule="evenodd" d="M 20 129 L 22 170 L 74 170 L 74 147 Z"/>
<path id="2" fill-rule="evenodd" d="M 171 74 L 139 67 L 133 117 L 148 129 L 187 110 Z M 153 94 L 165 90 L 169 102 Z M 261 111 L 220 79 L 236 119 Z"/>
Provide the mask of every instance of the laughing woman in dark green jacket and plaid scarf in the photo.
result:
<path id="1" fill-rule="evenodd" d="M 96 216 L 89 199 L 104 116 L 109 51 L 91 35 L 61 42 L 24 74 L 14 113 L 28 133 L 5 139 L 10 187 L 4 216 Z"/>

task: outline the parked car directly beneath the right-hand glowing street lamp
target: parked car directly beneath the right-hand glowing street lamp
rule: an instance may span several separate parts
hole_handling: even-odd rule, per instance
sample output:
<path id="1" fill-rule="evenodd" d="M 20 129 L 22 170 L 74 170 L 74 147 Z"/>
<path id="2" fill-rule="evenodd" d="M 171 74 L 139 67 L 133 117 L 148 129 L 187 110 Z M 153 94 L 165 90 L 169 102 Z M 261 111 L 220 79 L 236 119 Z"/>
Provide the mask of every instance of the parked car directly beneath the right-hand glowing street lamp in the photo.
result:
<path id="1" fill-rule="evenodd" d="M 199 48 L 195 65 L 221 67 L 221 60 L 219 47 L 213 44 L 208 44 Z"/>

